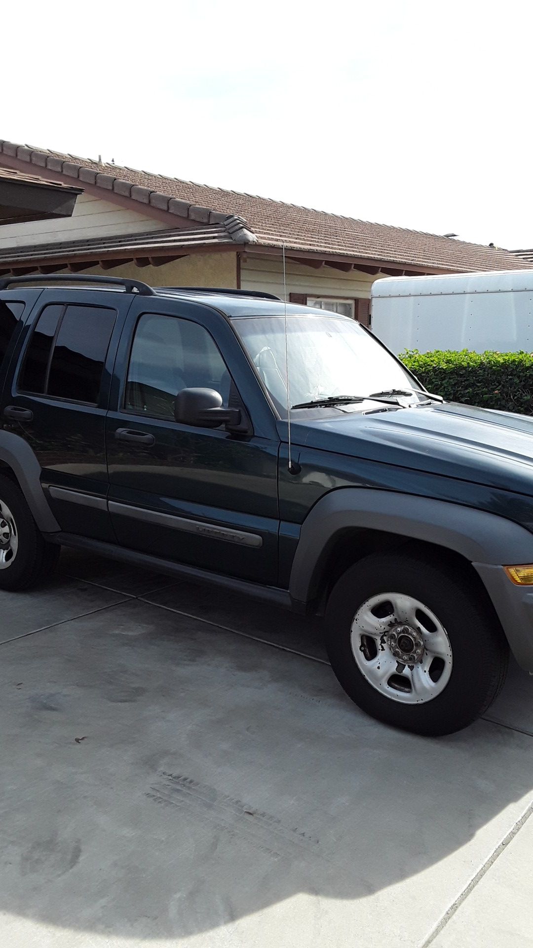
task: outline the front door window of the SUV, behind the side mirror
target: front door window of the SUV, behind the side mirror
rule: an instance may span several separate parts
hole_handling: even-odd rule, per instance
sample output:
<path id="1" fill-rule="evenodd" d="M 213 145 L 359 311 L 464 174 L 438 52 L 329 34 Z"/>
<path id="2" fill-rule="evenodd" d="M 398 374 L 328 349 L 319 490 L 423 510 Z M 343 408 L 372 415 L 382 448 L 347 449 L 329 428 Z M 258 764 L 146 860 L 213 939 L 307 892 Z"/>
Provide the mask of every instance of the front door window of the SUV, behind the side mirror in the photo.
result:
<path id="1" fill-rule="evenodd" d="M 189 319 L 146 313 L 134 337 L 125 407 L 156 418 L 174 419 L 182 389 L 220 392 L 230 397 L 230 374 L 210 334 Z"/>

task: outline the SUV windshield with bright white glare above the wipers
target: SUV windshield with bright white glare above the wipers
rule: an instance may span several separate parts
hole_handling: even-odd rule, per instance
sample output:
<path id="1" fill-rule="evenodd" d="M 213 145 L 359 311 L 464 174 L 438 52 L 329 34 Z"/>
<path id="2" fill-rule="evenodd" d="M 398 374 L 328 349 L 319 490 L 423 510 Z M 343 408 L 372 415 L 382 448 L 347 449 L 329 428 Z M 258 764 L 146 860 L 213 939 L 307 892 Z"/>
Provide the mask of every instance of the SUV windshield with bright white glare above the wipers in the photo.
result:
<path id="1" fill-rule="evenodd" d="M 285 319 L 243 317 L 233 323 L 274 405 L 286 418 Z M 413 391 L 418 400 L 412 376 L 354 319 L 287 316 L 286 331 L 291 406 L 390 389 Z"/>

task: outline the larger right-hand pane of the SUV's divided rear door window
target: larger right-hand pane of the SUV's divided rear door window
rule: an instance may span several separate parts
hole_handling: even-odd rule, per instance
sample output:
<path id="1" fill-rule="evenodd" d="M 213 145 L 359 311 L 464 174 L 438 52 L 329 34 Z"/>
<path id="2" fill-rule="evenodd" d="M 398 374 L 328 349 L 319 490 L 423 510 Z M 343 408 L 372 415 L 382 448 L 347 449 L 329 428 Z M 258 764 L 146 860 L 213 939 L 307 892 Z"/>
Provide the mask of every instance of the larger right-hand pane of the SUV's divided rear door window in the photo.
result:
<path id="1" fill-rule="evenodd" d="M 116 316 L 114 309 L 66 307 L 50 363 L 48 395 L 77 402 L 98 401 Z"/>

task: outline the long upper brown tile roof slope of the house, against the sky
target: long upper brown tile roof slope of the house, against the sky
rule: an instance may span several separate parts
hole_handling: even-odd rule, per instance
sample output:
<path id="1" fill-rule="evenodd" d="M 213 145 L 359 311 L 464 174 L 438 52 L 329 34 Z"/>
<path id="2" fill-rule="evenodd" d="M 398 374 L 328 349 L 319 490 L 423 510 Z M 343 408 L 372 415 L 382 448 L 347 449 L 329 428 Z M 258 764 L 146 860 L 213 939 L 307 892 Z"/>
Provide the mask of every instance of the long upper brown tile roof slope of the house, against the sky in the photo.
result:
<path id="1" fill-rule="evenodd" d="M 384 264 L 468 272 L 528 268 L 507 250 L 468 244 L 450 237 L 359 221 L 253 194 L 224 191 L 77 155 L 63 155 L 0 140 L 0 154 L 48 168 L 66 177 L 116 191 L 144 205 L 168 210 L 204 224 L 228 215 L 244 218 L 252 242 L 260 246 L 356 257 Z M 1 157 L 0 157 L 1 160 Z"/>

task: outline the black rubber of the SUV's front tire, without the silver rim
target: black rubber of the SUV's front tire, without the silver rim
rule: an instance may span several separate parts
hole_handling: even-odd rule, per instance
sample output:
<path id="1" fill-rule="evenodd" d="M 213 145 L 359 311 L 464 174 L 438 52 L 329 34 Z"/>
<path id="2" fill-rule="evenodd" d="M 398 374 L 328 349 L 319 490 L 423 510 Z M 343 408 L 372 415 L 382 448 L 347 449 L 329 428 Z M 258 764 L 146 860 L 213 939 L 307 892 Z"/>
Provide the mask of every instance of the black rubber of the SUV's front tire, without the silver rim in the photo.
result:
<path id="1" fill-rule="evenodd" d="M 450 680 L 427 702 L 401 703 L 378 691 L 354 658 L 351 627 L 358 608 L 387 592 L 424 603 L 450 640 Z M 466 727 L 487 710 L 505 682 L 508 647 L 495 614 L 475 585 L 446 565 L 414 556 L 367 556 L 332 590 L 325 629 L 329 660 L 352 701 L 377 720 L 415 734 L 436 737 Z"/>

